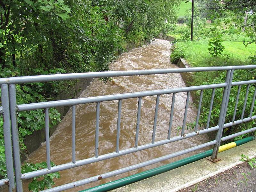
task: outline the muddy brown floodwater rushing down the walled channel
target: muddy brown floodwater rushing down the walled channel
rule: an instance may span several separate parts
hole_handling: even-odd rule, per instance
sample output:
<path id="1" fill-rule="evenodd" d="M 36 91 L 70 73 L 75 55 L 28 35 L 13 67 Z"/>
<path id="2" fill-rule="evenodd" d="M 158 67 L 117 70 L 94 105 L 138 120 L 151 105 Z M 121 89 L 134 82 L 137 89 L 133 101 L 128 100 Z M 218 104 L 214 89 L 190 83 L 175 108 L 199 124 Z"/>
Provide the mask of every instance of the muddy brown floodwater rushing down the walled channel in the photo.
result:
<path id="1" fill-rule="evenodd" d="M 116 62 L 111 64 L 111 70 L 177 68 L 176 65 L 169 62 L 170 48 L 171 44 L 168 41 L 156 39 L 153 43 L 148 44 L 147 46 L 133 49 L 130 52 L 121 54 Z M 103 84 L 98 79 L 94 79 L 80 97 L 92 97 L 176 87 L 185 87 L 185 83 L 183 82 L 180 74 L 114 77 L 113 81 L 108 82 L 107 84 Z M 186 92 L 176 94 L 174 105 L 175 110 L 172 123 L 172 137 L 177 135 L 176 128 L 182 125 L 186 95 Z M 172 94 L 160 96 L 156 126 L 156 141 L 167 138 L 172 103 L 171 101 Z M 155 104 L 156 96 L 142 98 L 139 145 L 151 142 Z M 120 150 L 134 147 L 137 108 L 138 98 L 125 99 L 122 102 Z M 99 155 L 115 152 L 117 109 L 118 100 L 100 103 Z M 197 109 L 192 104 L 192 100 L 190 98 L 187 123 L 195 120 L 196 113 Z M 94 156 L 96 124 L 95 116 L 95 103 L 76 106 L 76 160 Z M 188 131 L 186 130 L 186 132 Z M 50 139 L 51 161 L 57 165 L 71 162 L 71 141 L 71 110 L 69 110 Z M 55 186 L 89 178 L 133 164 L 138 164 L 140 162 L 190 148 L 207 141 L 209 141 L 207 135 L 197 135 L 196 137 L 173 142 L 164 146 L 61 171 L 61 178 L 55 180 Z M 203 152 L 204 150 L 206 149 L 191 152 L 183 156 L 172 158 L 168 161 L 90 183 L 69 191 L 78 191 L 120 179 L 128 175 L 152 169 L 163 164 Z M 34 151 L 26 161 L 30 161 L 32 163 L 46 161 L 45 143 L 42 143 L 42 146 Z M 24 191 L 28 191 L 28 182 L 29 180 L 23 181 Z"/>

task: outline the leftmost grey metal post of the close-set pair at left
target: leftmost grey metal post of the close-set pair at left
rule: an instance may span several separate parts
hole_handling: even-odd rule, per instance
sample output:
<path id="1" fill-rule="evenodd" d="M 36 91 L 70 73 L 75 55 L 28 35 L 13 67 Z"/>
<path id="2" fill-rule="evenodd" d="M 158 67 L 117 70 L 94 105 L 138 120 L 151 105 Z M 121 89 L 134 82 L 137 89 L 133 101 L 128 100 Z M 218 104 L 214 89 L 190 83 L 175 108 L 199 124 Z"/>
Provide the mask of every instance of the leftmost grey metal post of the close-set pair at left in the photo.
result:
<path id="1" fill-rule="evenodd" d="M 11 124 L 10 124 L 10 107 L 9 107 L 9 91 L 8 85 L 1 85 L 2 94 L 2 107 L 3 107 L 3 128 L 4 128 L 4 148 L 6 158 L 6 170 L 7 177 L 9 179 L 9 192 L 14 191 L 15 182 L 13 174 L 13 162 L 12 162 L 12 138 L 11 138 Z"/>

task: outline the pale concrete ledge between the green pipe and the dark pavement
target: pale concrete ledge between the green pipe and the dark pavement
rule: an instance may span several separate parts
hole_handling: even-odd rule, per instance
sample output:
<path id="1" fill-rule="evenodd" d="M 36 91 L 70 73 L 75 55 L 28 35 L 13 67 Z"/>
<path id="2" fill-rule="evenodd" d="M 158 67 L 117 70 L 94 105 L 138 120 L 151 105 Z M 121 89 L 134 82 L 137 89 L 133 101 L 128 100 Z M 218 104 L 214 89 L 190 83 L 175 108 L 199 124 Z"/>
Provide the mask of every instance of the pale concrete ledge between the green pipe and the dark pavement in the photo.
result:
<path id="1" fill-rule="evenodd" d="M 216 163 L 212 163 L 204 158 L 154 177 L 117 188 L 112 190 L 112 192 L 179 191 L 243 163 L 239 160 L 242 154 L 250 158 L 256 157 L 255 146 L 256 140 L 253 140 L 219 153 L 218 158 L 221 160 Z"/>

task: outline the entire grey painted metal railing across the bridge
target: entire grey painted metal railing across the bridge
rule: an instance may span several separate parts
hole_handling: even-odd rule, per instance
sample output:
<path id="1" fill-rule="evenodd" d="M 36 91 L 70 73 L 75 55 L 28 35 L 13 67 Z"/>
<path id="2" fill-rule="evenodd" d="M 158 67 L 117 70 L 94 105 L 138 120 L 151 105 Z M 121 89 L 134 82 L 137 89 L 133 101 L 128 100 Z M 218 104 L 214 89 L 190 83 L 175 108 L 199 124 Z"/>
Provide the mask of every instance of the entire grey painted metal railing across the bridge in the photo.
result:
<path id="1" fill-rule="evenodd" d="M 252 116 L 252 111 L 254 108 L 254 100 L 256 95 L 256 88 L 254 90 L 250 115 L 249 117 L 244 118 L 244 111 L 246 107 L 248 91 L 250 84 L 255 84 L 256 80 L 248 80 L 241 82 L 232 82 L 233 72 L 237 69 L 256 69 L 256 65 L 249 66 L 233 66 L 233 67 L 205 67 L 205 68 L 178 68 L 178 69 L 152 69 L 152 70 L 133 70 L 133 71 L 109 71 L 109 72 L 92 72 L 92 73 L 77 73 L 77 74 L 58 74 L 58 75 L 42 75 L 42 76 L 26 76 L 26 77 L 11 77 L 11 78 L 2 78 L 0 79 L 1 84 L 1 93 L 2 93 L 2 107 L 0 108 L 0 113 L 4 118 L 4 142 L 5 142 L 5 154 L 6 154 L 6 167 L 7 167 L 7 178 L 0 180 L 0 186 L 8 184 L 9 191 L 12 191 L 16 187 L 17 192 L 23 191 L 22 189 L 22 180 L 30 179 L 33 177 L 41 176 L 48 173 L 58 172 L 66 169 L 71 169 L 74 167 L 99 162 L 102 160 L 123 156 L 126 154 L 134 153 L 136 151 L 141 151 L 153 147 L 157 147 L 160 145 L 164 145 L 167 143 L 175 142 L 178 140 L 187 139 L 190 137 L 194 137 L 199 134 L 204 134 L 208 132 L 217 131 L 215 140 L 188 148 L 185 150 L 181 150 L 172 154 L 168 154 L 166 156 L 158 157 L 146 162 L 142 162 L 139 164 L 135 164 L 129 167 L 125 167 L 122 169 L 118 169 L 115 171 L 103 173 L 101 175 L 97 175 L 94 177 L 90 177 L 84 180 L 75 181 L 72 183 L 68 183 L 65 185 L 61 185 L 58 187 L 54 187 L 51 189 L 47 189 L 44 191 L 62 191 L 74 187 L 78 187 L 81 185 L 85 185 L 87 183 L 91 183 L 94 181 L 98 181 L 101 179 L 109 178 L 121 173 L 129 172 L 135 169 L 139 169 L 144 166 L 148 166 L 151 164 L 155 164 L 176 156 L 180 156 L 191 151 L 195 151 L 201 148 L 205 148 L 207 146 L 214 145 L 212 152 L 212 159 L 216 159 L 218 155 L 218 149 L 220 147 L 220 142 L 228 139 L 232 139 L 236 136 L 253 132 L 256 130 L 256 127 L 238 132 L 226 137 L 222 137 L 223 128 L 230 127 L 236 124 L 248 122 L 251 120 L 255 120 L 256 116 Z M 145 92 L 133 92 L 133 93 L 124 93 L 124 94 L 114 94 L 114 95 L 104 95 L 97 97 L 88 97 L 88 98 L 79 98 L 79 99 L 69 99 L 69 100 L 57 100 L 57 101 L 48 101 L 48 102 L 40 102 L 40 103 L 29 103 L 29 104 L 21 104 L 17 105 L 16 103 L 16 84 L 23 83 L 34 83 L 34 82 L 47 82 L 47 81 L 64 81 L 64 80 L 74 80 L 74 79 L 83 79 L 83 78 L 100 78 L 100 77 L 115 77 L 115 76 L 136 76 L 136 75 L 153 75 L 153 74 L 171 74 L 171 73 L 182 73 L 182 72 L 208 72 L 208 71 L 226 71 L 226 79 L 225 82 L 220 84 L 208 84 L 208 85 L 200 85 L 200 86 L 190 86 L 190 87 L 182 87 L 182 88 L 173 88 L 173 89 L 164 89 L 164 90 L 156 90 L 156 91 L 145 91 Z M 246 95 L 244 100 L 244 106 L 242 110 L 242 116 L 239 120 L 235 121 L 236 117 L 236 108 L 239 100 L 239 94 L 241 85 L 247 85 Z M 228 100 L 231 86 L 238 86 L 236 105 L 233 115 L 232 122 L 225 123 L 225 116 L 227 113 Z M 223 88 L 223 99 L 220 107 L 220 115 L 218 124 L 213 127 L 209 127 L 210 119 L 211 119 L 211 111 L 212 105 L 215 95 L 215 89 Z M 207 119 L 206 128 L 202 130 L 198 130 L 198 122 L 200 116 L 200 109 L 203 98 L 203 90 L 212 89 L 212 97 L 209 107 L 209 114 Z M 196 125 L 195 130 L 193 132 L 184 134 L 187 111 L 188 111 L 188 103 L 189 96 L 191 91 L 200 91 L 200 97 L 198 102 L 198 112 L 196 117 Z M 185 105 L 185 112 L 183 118 L 183 124 L 181 129 L 181 134 L 179 136 L 171 137 L 172 132 L 172 117 L 175 103 L 175 94 L 179 92 L 187 92 L 187 100 Z M 169 122 L 169 130 L 166 135 L 166 139 L 155 141 L 155 133 L 156 133 L 156 119 L 158 113 L 158 104 L 159 97 L 163 94 L 172 94 L 172 105 L 171 105 L 171 113 L 170 113 L 170 122 Z M 155 117 L 153 124 L 153 133 L 151 143 L 138 145 L 139 140 L 139 129 L 140 129 L 140 110 L 141 110 L 141 99 L 146 96 L 155 96 L 156 95 L 156 108 L 155 108 Z M 120 123 L 121 123 L 121 107 L 122 100 L 129 98 L 138 98 L 138 112 L 137 112 L 137 124 L 136 124 L 136 133 L 135 133 L 135 141 L 134 147 L 128 148 L 124 150 L 119 150 L 119 138 L 120 138 Z M 117 134 L 116 134 L 116 151 L 112 153 L 107 153 L 104 155 L 98 154 L 99 148 L 99 121 L 100 121 L 100 103 L 104 101 L 110 100 L 118 100 L 118 117 L 117 117 Z M 94 157 L 90 157 L 87 159 L 77 160 L 76 159 L 76 130 L 75 130 L 75 118 L 76 118 L 76 105 L 85 104 L 85 103 L 96 103 L 96 127 L 95 127 L 95 154 Z M 71 106 L 72 107 L 72 160 L 70 163 L 60 164 L 56 166 L 51 166 L 50 160 L 50 141 L 49 141 L 49 108 L 55 108 L 60 106 Z M 17 127 L 17 113 L 20 111 L 28 111 L 28 110 L 36 110 L 36 109 L 45 109 L 45 136 L 46 136 L 46 159 L 47 159 L 47 168 L 32 171 L 28 173 L 21 174 L 21 162 L 20 162 L 20 148 L 19 148 L 19 137 L 18 137 L 18 127 Z M 11 134 L 12 131 L 12 134 Z M 222 138 L 221 138 L 222 137 Z M 12 158 L 13 152 L 13 158 Z M 14 160 L 14 166 L 13 161 Z M 15 182 L 14 182 L 14 174 L 13 168 L 15 170 Z M 16 186 L 14 185 L 16 183 Z"/>

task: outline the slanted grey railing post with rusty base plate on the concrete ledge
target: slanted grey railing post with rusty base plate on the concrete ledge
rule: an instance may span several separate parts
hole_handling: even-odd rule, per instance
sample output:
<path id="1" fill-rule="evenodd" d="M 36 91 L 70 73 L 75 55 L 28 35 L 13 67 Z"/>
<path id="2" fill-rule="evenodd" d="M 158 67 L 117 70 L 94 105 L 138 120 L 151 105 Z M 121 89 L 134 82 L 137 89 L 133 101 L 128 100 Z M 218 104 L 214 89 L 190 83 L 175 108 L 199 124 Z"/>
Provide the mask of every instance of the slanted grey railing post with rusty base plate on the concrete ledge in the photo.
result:
<path id="1" fill-rule="evenodd" d="M 226 82 L 227 86 L 225 87 L 224 92 L 223 92 L 223 97 L 222 97 L 222 102 L 221 102 L 221 107 L 220 107 L 220 117 L 219 117 L 219 121 L 218 121 L 219 130 L 215 137 L 215 140 L 217 140 L 217 143 L 213 147 L 211 159 L 208 158 L 212 162 L 216 162 L 216 161 L 220 160 L 220 159 L 217 159 L 217 156 L 218 156 L 221 136 L 222 136 L 222 132 L 223 132 L 223 126 L 225 123 L 225 118 L 226 118 L 226 113 L 227 113 L 228 100 L 229 100 L 229 94 L 230 94 L 230 89 L 231 89 L 231 83 L 232 83 L 232 79 L 233 79 L 233 73 L 234 73 L 234 70 L 232 69 L 232 70 L 228 70 L 227 74 L 226 74 L 225 82 Z"/>

